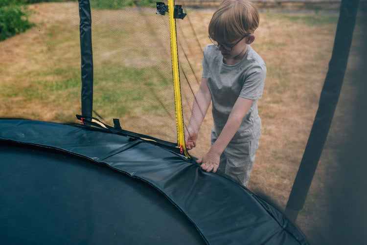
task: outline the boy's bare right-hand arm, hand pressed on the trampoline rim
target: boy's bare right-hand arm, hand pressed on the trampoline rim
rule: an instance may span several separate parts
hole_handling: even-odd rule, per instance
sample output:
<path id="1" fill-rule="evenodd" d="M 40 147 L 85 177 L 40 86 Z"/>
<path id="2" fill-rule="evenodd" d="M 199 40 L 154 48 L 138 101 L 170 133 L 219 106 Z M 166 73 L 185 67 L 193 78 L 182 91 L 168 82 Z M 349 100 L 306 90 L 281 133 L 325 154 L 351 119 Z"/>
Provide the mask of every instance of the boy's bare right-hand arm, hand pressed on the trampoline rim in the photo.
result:
<path id="1" fill-rule="evenodd" d="M 252 100 L 238 97 L 221 134 L 219 134 L 219 137 L 210 147 L 209 151 L 197 160 L 198 163 L 201 163 L 201 168 L 203 170 L 213 173 L 217 171 L 221 154 L 237 132 L 251 104 Z"/>

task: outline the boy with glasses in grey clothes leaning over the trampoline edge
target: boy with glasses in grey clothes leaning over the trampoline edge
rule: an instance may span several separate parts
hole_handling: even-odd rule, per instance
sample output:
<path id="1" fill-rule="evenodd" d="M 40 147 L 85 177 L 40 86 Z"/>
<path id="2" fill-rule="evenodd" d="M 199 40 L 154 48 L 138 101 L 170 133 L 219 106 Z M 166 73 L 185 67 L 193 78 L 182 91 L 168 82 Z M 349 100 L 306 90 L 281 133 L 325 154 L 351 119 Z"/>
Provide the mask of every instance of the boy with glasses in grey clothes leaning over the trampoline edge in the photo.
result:
<path id="1" fill-rule="evenodd" d="M 213 44 L 204 49 L 202 81 L 195 96 L 186 148 L 196 146 L 200 126 L 212 102 L 211 147 L 197 162 L 203 170 L 247 186 L 257 150 L 266 66 L 250 44 L 259 15 L 248 0 L 224 0 L 209 23 Z"/>

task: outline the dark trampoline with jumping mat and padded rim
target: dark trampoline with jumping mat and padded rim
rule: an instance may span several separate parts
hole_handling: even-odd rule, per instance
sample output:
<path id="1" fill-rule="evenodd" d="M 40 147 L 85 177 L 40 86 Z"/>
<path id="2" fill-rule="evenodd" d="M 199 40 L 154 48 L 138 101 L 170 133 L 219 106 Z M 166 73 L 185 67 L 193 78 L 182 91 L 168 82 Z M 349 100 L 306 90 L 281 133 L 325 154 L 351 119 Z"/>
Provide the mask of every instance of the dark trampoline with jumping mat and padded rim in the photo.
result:
<path id="1" fill-rule="evenodd" d="M 0 120 L 2 244 L 307 244 L 274 207 L 129 135 Z"/>

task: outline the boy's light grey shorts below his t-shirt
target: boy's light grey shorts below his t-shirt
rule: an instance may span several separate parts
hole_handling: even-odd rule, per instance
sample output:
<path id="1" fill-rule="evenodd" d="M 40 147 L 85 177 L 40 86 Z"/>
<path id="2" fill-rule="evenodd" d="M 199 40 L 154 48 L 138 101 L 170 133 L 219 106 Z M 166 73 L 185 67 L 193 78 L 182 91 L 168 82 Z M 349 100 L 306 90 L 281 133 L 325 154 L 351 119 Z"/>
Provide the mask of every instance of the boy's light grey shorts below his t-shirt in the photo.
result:
<path id="1" fill-rule="evenodd" d="M 215 139 L 212 134 L 211 144 Z M 242 186 L 247 186 L 258 146 L 258 139 L 243 143 L 229 142 L 220 157 L 216 173 Z"/>

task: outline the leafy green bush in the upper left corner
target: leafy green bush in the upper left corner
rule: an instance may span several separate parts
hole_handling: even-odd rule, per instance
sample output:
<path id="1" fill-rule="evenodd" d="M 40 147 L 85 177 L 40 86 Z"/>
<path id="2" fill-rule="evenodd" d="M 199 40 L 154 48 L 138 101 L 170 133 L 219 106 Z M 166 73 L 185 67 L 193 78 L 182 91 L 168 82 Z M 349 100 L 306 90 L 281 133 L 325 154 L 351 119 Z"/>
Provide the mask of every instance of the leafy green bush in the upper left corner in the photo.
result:
<path id="1" fill-rule="evenodd" d="M 0 41 L 31 27 L 22 0 L 0 1 Z"/>

